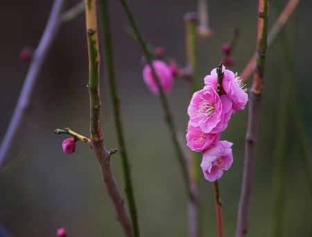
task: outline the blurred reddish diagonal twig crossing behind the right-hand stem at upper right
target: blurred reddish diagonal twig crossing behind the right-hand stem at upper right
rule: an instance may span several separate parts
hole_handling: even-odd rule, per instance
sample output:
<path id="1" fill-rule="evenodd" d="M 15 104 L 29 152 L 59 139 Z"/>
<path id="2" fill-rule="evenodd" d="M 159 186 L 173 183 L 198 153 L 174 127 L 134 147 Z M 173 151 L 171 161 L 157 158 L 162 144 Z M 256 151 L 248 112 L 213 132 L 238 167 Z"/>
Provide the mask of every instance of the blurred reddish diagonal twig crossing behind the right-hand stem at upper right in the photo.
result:
<path id="1" fill-rule="evenodd" d="M 300 0 L 289 0 L 286 7 L 284 8 L 283 12 L 281 12 L 281 15 L 277 18 L 275 23 L 273 24 L 272 28 L 270 29 L 270 32 L 268 33 L 268 48 L 272 46 L 273 42 L 276 40 L 277 35 L 279 35 L 279 32 L 281 28 L 286 24 L 288 19 L 291 17 L 293 12 L 297 9 L 297 6 L 299 5 Z M 242 81 L 246 82 L 248 78 L 250 77 L 252 73 L 252 69 L 254 67 L 254 60 L 256 58 L 256 55 L 252 55 L 252 58 L 250 58 L 248 64 L 246 64 L 243 71 L 240 73 Z"/>

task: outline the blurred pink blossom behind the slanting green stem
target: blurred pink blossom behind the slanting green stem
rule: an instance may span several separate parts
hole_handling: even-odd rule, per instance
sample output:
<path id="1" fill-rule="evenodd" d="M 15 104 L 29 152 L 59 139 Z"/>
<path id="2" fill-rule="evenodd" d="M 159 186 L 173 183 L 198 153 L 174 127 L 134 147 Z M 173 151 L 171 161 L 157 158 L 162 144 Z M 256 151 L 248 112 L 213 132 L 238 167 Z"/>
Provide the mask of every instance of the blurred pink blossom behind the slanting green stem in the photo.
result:
<path id="1" fill-rule="evenodd" d="M 154 60 L 153 67 L 164 93 L 170 93 L 173 87 L 173 74 L 171 68 L 168 66 L 168 64 L 166 64 L 166 62 L 160 60 Z M 143 78 L 148 89 L 150 89 L 150 91 L 152 91 L 154 94 L 159 94 L 157 83 L 148 64 L 146 64 L 143 69 Z"/>

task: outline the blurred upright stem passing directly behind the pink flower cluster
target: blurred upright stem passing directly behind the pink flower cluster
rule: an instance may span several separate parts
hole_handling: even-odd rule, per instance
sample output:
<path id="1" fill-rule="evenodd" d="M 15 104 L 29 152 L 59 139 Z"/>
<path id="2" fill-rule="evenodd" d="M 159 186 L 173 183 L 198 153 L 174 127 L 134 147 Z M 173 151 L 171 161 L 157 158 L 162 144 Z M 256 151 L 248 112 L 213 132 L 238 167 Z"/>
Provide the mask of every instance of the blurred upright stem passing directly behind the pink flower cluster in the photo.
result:
<path id="1" fill-rule="evenodd" d="M 188 12 L 184 15 L 186 31 L 187 69 L 189 71 L 189 96 L 200 88 L 198 85 L 198 55 L 197 55 L 197 15 Z M 200 236 L 200 203 L 198 198 L 200 158 L 196 152 L 192 152 L 189 161 L 189 185 L 194 194 L 193 199 L 189 199 L 189 236 Z"/>

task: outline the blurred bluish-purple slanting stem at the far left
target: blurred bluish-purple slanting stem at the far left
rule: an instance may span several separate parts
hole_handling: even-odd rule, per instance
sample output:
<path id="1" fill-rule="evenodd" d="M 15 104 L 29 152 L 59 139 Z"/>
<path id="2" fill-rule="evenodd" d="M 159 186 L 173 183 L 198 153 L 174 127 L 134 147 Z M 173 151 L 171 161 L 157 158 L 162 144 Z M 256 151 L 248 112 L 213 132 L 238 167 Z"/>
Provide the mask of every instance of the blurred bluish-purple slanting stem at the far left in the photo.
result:
<path id="1" fill-rule="evenodd" d="M 6 130 L 6 134 L 4 135 L 1 143 L 0 170 L 3 168 L 3 164 L 8 156 L 10 147 L 17 138 L 21 124 L 29 112 L 31 96 L 33 94 L 33 89 L 35 88 L 35 83 L 39 77 L 40 70 L 42 69 L 42 64 L 44 63 L 44 60 L 46 60 L 46 55 L 48 54 L 49 49 L 51 49 L 51 45 L 54 42 L 55 36 L 57 35 L 62 23 L 60 15 L 64 3 L 64 0 L 54 1 L 46 28 L 44 29 L 40 43 L 33 54 L 33 60 L 28 69 L 23 88 L 21 89 L 21 94 L 19 94 L 19 99 L 17 101 L 12 119 L 10 120 L 10 124 L 8 125 L 8 129 Z"/>

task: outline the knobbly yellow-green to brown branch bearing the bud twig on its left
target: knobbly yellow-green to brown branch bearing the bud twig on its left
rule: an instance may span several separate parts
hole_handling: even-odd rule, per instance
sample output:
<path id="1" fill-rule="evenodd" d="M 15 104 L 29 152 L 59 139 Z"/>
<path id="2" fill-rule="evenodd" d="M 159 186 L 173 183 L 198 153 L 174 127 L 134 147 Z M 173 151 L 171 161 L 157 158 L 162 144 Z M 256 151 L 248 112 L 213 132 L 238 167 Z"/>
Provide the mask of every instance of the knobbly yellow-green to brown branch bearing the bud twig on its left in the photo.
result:
<path id="1" fill-rule="evenodd" d="M 112 167 L 110 166 L 110 152 L 105 149 L 101 132 L 101 96 L 99 87 L 99 64 L 98 53 L 98 26 L 96 20 L 96 0 L 85 0 L 85 17 L 87 31 L 87 45 L 89 54 L 89 97 L 90 97 L 90 137 L 91 147 L 98 159 L 102 179 L 107 194 L 112 201 L 116 218 L 126 236 L 132 236 L 130 220 L 125 211 L 125 204 L 119 188 L 114 180 Z"/>

